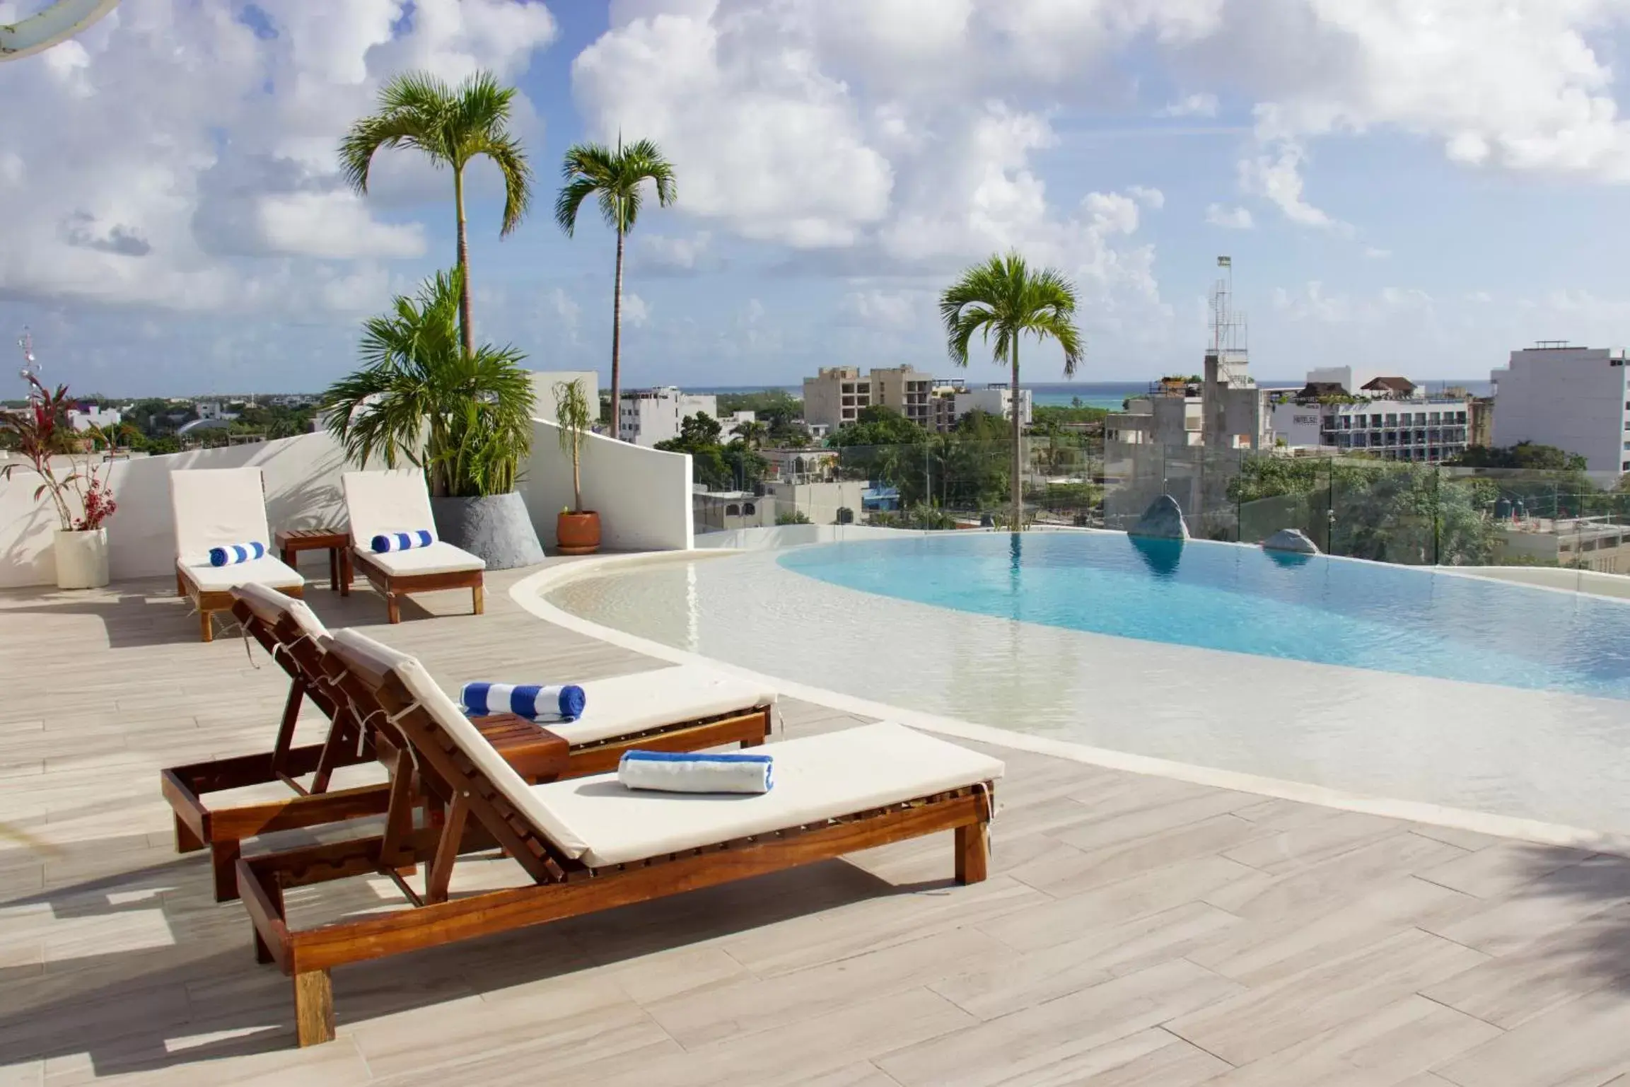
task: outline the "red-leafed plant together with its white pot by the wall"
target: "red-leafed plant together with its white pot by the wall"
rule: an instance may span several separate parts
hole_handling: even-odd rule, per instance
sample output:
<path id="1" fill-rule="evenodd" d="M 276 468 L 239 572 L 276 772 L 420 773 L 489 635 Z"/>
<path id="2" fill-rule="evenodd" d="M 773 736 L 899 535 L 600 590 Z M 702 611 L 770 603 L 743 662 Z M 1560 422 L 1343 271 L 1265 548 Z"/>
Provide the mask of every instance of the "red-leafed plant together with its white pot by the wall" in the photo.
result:
<path id="1" fill-rule="evenodd" d="M 0 437 L 23 460 L 0 468 L 0 477 L 10 481 L 26 468 L 39 476 L 34 500 L 51 495 L 57 513 L 57 588 L 101 588 L 108 583 L 106 525 L 117 508 L 103 476 L 106 464 L 95 460 L 96 445 L 106 438 L 95 427 L 83 437 L 68 427 L 68 386 L 51 391 L 28 370 L 23 376 L 29 383 L 28 406 L 0 417 Z"/>

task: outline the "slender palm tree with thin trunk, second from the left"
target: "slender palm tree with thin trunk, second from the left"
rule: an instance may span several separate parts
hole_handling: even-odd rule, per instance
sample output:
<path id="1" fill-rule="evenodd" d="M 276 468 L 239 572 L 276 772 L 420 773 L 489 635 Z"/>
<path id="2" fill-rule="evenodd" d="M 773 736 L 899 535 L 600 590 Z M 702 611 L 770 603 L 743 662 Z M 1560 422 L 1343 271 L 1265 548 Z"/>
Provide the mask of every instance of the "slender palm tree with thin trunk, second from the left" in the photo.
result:
<path id="1" fill-rule="evenodd" d="M 623 240 L 634 230 L 639 217 L 641 186 L 650 181 L 657 186 L 657 204 L 668 207 L 675 200 L 673 166 L 662 156 L 662 148 L 650 140 L 637 140 L 623 147 L 618 137 L 616 150 L 603 143 L 574 143 L 561 165 L 566 186 L 554 200 L 554 222 L 570 236 L 577 230 L 577 209 L 590 196 L 598 199 L 600 217 L 616 230 L 616 287 L 611 293 L 611 424 L 613 437 L 618 427 L 618 404 L 623 394 Z"/>

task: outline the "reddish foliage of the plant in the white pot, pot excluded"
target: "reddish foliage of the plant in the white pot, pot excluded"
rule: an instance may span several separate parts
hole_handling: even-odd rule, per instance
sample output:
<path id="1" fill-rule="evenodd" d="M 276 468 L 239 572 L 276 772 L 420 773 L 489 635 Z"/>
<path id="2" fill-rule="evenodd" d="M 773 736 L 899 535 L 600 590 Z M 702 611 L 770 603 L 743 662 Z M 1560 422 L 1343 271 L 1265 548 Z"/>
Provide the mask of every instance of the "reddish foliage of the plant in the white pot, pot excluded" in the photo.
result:
<path id="1" fill-rule="evenodd" d="M 47 389 L 34 375 L 24 375 L 29 383 L 28 407 L 20 412 L 0 416 L 0 435 L 8 438 L 28 464 L 7 464 L 0 468 L 0 476 L 11 479 L 20 468 L 33 469 L 39 479 L 34 489 L 34 500 L 42 494 L 51 495 L 51 504 L 57 510 L 57 521 L 64 531 L 95 531 L 112 517 L 112 487 L 103 477 L 104 464 L 96 463 L 93 453 L 85 448 L 80 435 L 68 425 L 68 386 L 59 385 L 55 391 Z M 90 445 L 106 442 L 106 435 L 96 427 L 85 432 Z M 60 464 L 52 464 L 52 458 L 67 456 L 67 474 L 59 474 Z M 73 508 L 80 508 L 75 517 Z"/>

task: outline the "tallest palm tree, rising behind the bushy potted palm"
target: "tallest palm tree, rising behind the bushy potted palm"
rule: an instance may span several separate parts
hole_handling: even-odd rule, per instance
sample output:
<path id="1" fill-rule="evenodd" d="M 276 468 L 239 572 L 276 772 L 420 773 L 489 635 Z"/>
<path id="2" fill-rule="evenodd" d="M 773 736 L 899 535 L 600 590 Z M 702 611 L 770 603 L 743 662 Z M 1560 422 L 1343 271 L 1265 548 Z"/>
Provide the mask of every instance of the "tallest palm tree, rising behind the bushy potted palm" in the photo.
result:
<path id="1" fill-rule="evenodd" d="M 408 72 L 380 88 L 378 112 L 362 117 L 339 145 L 346 181 L 368 192 L 368 166 L 381 147 L 424 152 L 438 169 L 453 168 L 453 204 L 458 210 L 458 329 L 466 355 L 476 354 L 469 321 L 469 240 L 465 236 L 465 166 L 478 155 L 491 158 L 504 174 L 504 227 L 509 236 L 531 204 L 531 166 L 520 140 L 509 132 L 513 86 L 500 86 L 491 72 L 476 72 L 448 86 L 427 72 Z"/>

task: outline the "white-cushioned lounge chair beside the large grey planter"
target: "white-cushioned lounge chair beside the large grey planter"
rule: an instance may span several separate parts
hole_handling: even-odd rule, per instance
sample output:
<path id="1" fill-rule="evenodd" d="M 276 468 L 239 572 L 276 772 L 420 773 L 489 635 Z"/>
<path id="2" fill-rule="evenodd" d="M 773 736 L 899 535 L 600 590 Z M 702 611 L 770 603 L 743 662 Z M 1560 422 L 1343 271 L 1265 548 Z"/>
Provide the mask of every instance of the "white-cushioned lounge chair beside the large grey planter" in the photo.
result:
<path id="1" fill-rule="evenodd" d="M 385 596 L 391 623 L 401 623 L 403 596 L 442 588 L 468 588 L 476 614 L 486 611 L 482 574 L 487 564 L 478 556 L 443 539 L 409 551 L 373 551 L 375 536 L 435 530 L 424 473 L 416 468 L 350 471 L 341 476 L 341 486 L 350 513 L 352 562 Z"/>

